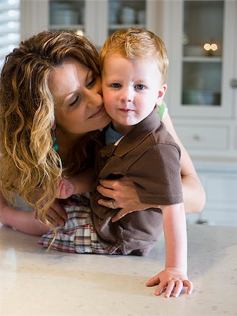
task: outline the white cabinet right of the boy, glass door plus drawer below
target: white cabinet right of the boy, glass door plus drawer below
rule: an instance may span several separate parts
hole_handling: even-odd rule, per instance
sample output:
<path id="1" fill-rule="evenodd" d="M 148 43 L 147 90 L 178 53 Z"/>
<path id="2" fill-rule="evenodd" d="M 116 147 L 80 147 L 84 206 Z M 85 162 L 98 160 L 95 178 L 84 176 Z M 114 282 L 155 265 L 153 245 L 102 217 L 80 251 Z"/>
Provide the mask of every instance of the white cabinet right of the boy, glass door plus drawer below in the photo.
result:
<path id="1" fill-rule="evenodd" d="M 237 1 L 163 1 L 166 101 L 193 157 L 236 159 Z"/>

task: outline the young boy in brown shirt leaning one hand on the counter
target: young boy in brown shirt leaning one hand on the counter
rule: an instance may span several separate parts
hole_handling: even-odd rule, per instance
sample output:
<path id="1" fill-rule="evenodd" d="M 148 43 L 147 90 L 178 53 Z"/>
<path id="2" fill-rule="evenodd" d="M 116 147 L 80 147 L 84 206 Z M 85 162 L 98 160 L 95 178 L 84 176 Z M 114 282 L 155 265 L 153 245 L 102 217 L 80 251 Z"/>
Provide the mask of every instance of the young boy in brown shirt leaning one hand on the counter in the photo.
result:
<path id="1" fill-rule="evenodd" d="M 163 41 L 146 29 L 121 29 L 105 41 L 100 53 L 104 106 L 111 117 L 105 129 L 106 147 L 98 154 L 98 178 L 127 176 L 140 201 L 159 209 L 130 213 L 112 223 L 111 209 L 90 202 L 93 225 L 109 253 L 145 255 L 165 235 L 165 270 L 149 280 L 175 296 L 191 282 L 187 278 L 187 232 L 180 176 L 180 148 L 157 115 L 166 91 L 168 57 Z M 118 211 L 118 210 L 117 210 Z M 161 215 L 162 214 L 162 215 Z"/>

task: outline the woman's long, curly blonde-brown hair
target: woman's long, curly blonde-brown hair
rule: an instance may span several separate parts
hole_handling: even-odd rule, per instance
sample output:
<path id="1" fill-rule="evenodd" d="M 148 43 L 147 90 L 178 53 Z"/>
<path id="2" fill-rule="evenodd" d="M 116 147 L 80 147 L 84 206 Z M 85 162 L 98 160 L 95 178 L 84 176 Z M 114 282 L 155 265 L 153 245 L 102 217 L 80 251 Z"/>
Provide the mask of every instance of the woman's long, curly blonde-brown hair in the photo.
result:
<path id="1" fill-rule="evenodd" d="M 68 57 L 76 58 L 99 74 L 95 47 L 72 32 L 41 32 L 22 41 L 6 56 L 1 71 L 1 191 L 11 202 L 13 195 L 18 194 L 27 204 L 36 206 L 41 221 L 47 225 L 50 223 L 46 210 L 55 199 L 57 181 L 63 171 L 61 159 L 53 150 L 55 105 L 48 77 Z M 85 140 L 84 143 L 86 146 Z M 69 173 L 74 167 L 76 171 L 82 167 L 85 146 L 79 144 L 72 166 L 69 166 L 72 159 L 68 159 L 65 167 Z"/>

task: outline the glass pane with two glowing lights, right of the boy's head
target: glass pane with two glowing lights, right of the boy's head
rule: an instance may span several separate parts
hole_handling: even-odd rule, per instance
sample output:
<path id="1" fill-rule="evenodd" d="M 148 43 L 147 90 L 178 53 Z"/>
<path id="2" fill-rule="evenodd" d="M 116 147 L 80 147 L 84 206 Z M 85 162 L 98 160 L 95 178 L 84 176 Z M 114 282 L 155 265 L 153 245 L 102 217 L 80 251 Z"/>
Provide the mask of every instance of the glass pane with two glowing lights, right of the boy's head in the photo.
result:
<path id="1" fill-rule="evenodd" d="M 224 1 L 184 1 L 183 10 L 182 105 L 219 107 Z"/>

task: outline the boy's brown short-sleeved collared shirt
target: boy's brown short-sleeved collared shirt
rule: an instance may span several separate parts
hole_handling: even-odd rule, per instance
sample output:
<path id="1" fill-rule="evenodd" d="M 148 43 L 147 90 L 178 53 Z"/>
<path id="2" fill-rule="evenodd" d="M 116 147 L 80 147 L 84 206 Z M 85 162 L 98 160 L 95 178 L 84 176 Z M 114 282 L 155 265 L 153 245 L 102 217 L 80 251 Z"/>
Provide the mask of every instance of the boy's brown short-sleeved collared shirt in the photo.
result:
<path id="1" fill-rule="evenodd" d="M 100 143 L 100 136 L 94 139 Z M 127 176 L 133 180 L 144 204 L 182 202 L 180 147 L 158 119 L 156 109 L 117 146 L 111 144 L 100 149 L 96 171 L 98 179 Z M 146 255 L 162 232 L 161 210 L 151 208 L 129 213 L 111 223 L 116 210 L 97 204 L 100 198 L 95 190 L 91 199 L 92 219 L 104 248 L 110 254 L 119 248 L 123 254 Z"/>

